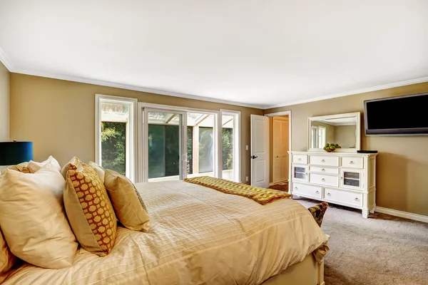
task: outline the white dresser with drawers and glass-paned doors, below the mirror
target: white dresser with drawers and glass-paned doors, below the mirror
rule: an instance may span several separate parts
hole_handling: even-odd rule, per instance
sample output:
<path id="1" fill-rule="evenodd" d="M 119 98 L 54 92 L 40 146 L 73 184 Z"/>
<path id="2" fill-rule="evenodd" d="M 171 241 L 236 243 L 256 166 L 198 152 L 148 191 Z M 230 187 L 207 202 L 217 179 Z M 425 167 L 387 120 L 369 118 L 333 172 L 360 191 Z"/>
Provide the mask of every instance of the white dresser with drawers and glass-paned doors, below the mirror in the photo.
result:
<path id="1" fill-rule="evenodd" d="M 292 195 L 362 209 L 376 207 L 376 155 L 355 152 L 289 152 Z"/>

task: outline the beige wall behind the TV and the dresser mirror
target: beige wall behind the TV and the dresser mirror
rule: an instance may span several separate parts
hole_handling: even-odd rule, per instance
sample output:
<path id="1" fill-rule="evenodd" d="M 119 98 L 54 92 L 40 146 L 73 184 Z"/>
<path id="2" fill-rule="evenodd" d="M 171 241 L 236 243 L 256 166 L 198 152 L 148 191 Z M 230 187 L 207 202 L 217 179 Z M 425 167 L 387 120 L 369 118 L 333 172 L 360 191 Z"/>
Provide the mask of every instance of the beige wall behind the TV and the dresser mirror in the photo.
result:
<path id="1" fill-rule="evenodd" d="M 363 112 L 364 100 L 422 92 L 428 92 L 428 83 L 272 108 L 265 113 L 291 110 L 292 150 L 306 150 L 308 117 Z M 377 206 L 428 216 L 428 136 L 365 136 L 364 122 L 361 132 L 362 149 L 379 150 Z"/>

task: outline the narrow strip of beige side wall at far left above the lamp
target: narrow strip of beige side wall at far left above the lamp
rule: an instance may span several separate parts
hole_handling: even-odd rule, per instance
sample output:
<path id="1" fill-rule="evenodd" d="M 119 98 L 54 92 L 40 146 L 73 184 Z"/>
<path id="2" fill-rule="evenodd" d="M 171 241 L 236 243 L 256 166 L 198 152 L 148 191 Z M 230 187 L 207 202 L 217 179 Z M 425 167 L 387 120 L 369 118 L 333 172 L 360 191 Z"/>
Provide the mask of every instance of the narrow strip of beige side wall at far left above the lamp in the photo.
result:
<path id="1" fill-rule="evenodd" d="M 0 142 L 9 140 L 10 73 L 0 61 Z"/>

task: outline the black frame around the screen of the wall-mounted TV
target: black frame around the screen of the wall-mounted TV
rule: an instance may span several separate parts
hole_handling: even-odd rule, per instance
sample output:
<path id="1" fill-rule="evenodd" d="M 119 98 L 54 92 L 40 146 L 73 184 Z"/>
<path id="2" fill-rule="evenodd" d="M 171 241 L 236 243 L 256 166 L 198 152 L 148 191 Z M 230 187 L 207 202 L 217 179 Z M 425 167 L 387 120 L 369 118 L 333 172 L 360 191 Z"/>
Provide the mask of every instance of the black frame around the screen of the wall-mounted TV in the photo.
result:
<path id="1" fill-rule="evenodd" d="M 375 102 L 375 101 L 386 101 L 386 100 L 397 100 L 401 98 L 407 97 L 417 97 L 417 96 L 427 96 L 427 93 L 417 93 L 410 95 L 402 95 L 395 97 L 387 97 L 387 98 L 379 98 L 372 100 L 364 101 L 364 125 L 365 125 L 365 135 L 428 135 L 428 127 L 427 128 L 408 128 L 408 129 L 377 129 L 377 130 L 368 130 L 367 129 L 367 103 Z"/>

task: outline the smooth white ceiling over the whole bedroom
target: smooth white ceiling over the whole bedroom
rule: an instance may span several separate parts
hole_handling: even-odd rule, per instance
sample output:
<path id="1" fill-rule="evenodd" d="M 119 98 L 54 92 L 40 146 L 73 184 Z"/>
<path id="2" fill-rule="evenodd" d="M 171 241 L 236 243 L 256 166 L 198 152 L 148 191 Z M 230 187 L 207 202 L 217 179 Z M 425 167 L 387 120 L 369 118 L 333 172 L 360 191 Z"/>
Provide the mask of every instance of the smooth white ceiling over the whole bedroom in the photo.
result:
<path id="1" fill-rule="evenodd" d="M 428 81 L 427 12 L 427 0 L 0 0 L 0 60 L 269 108 Z"/>

